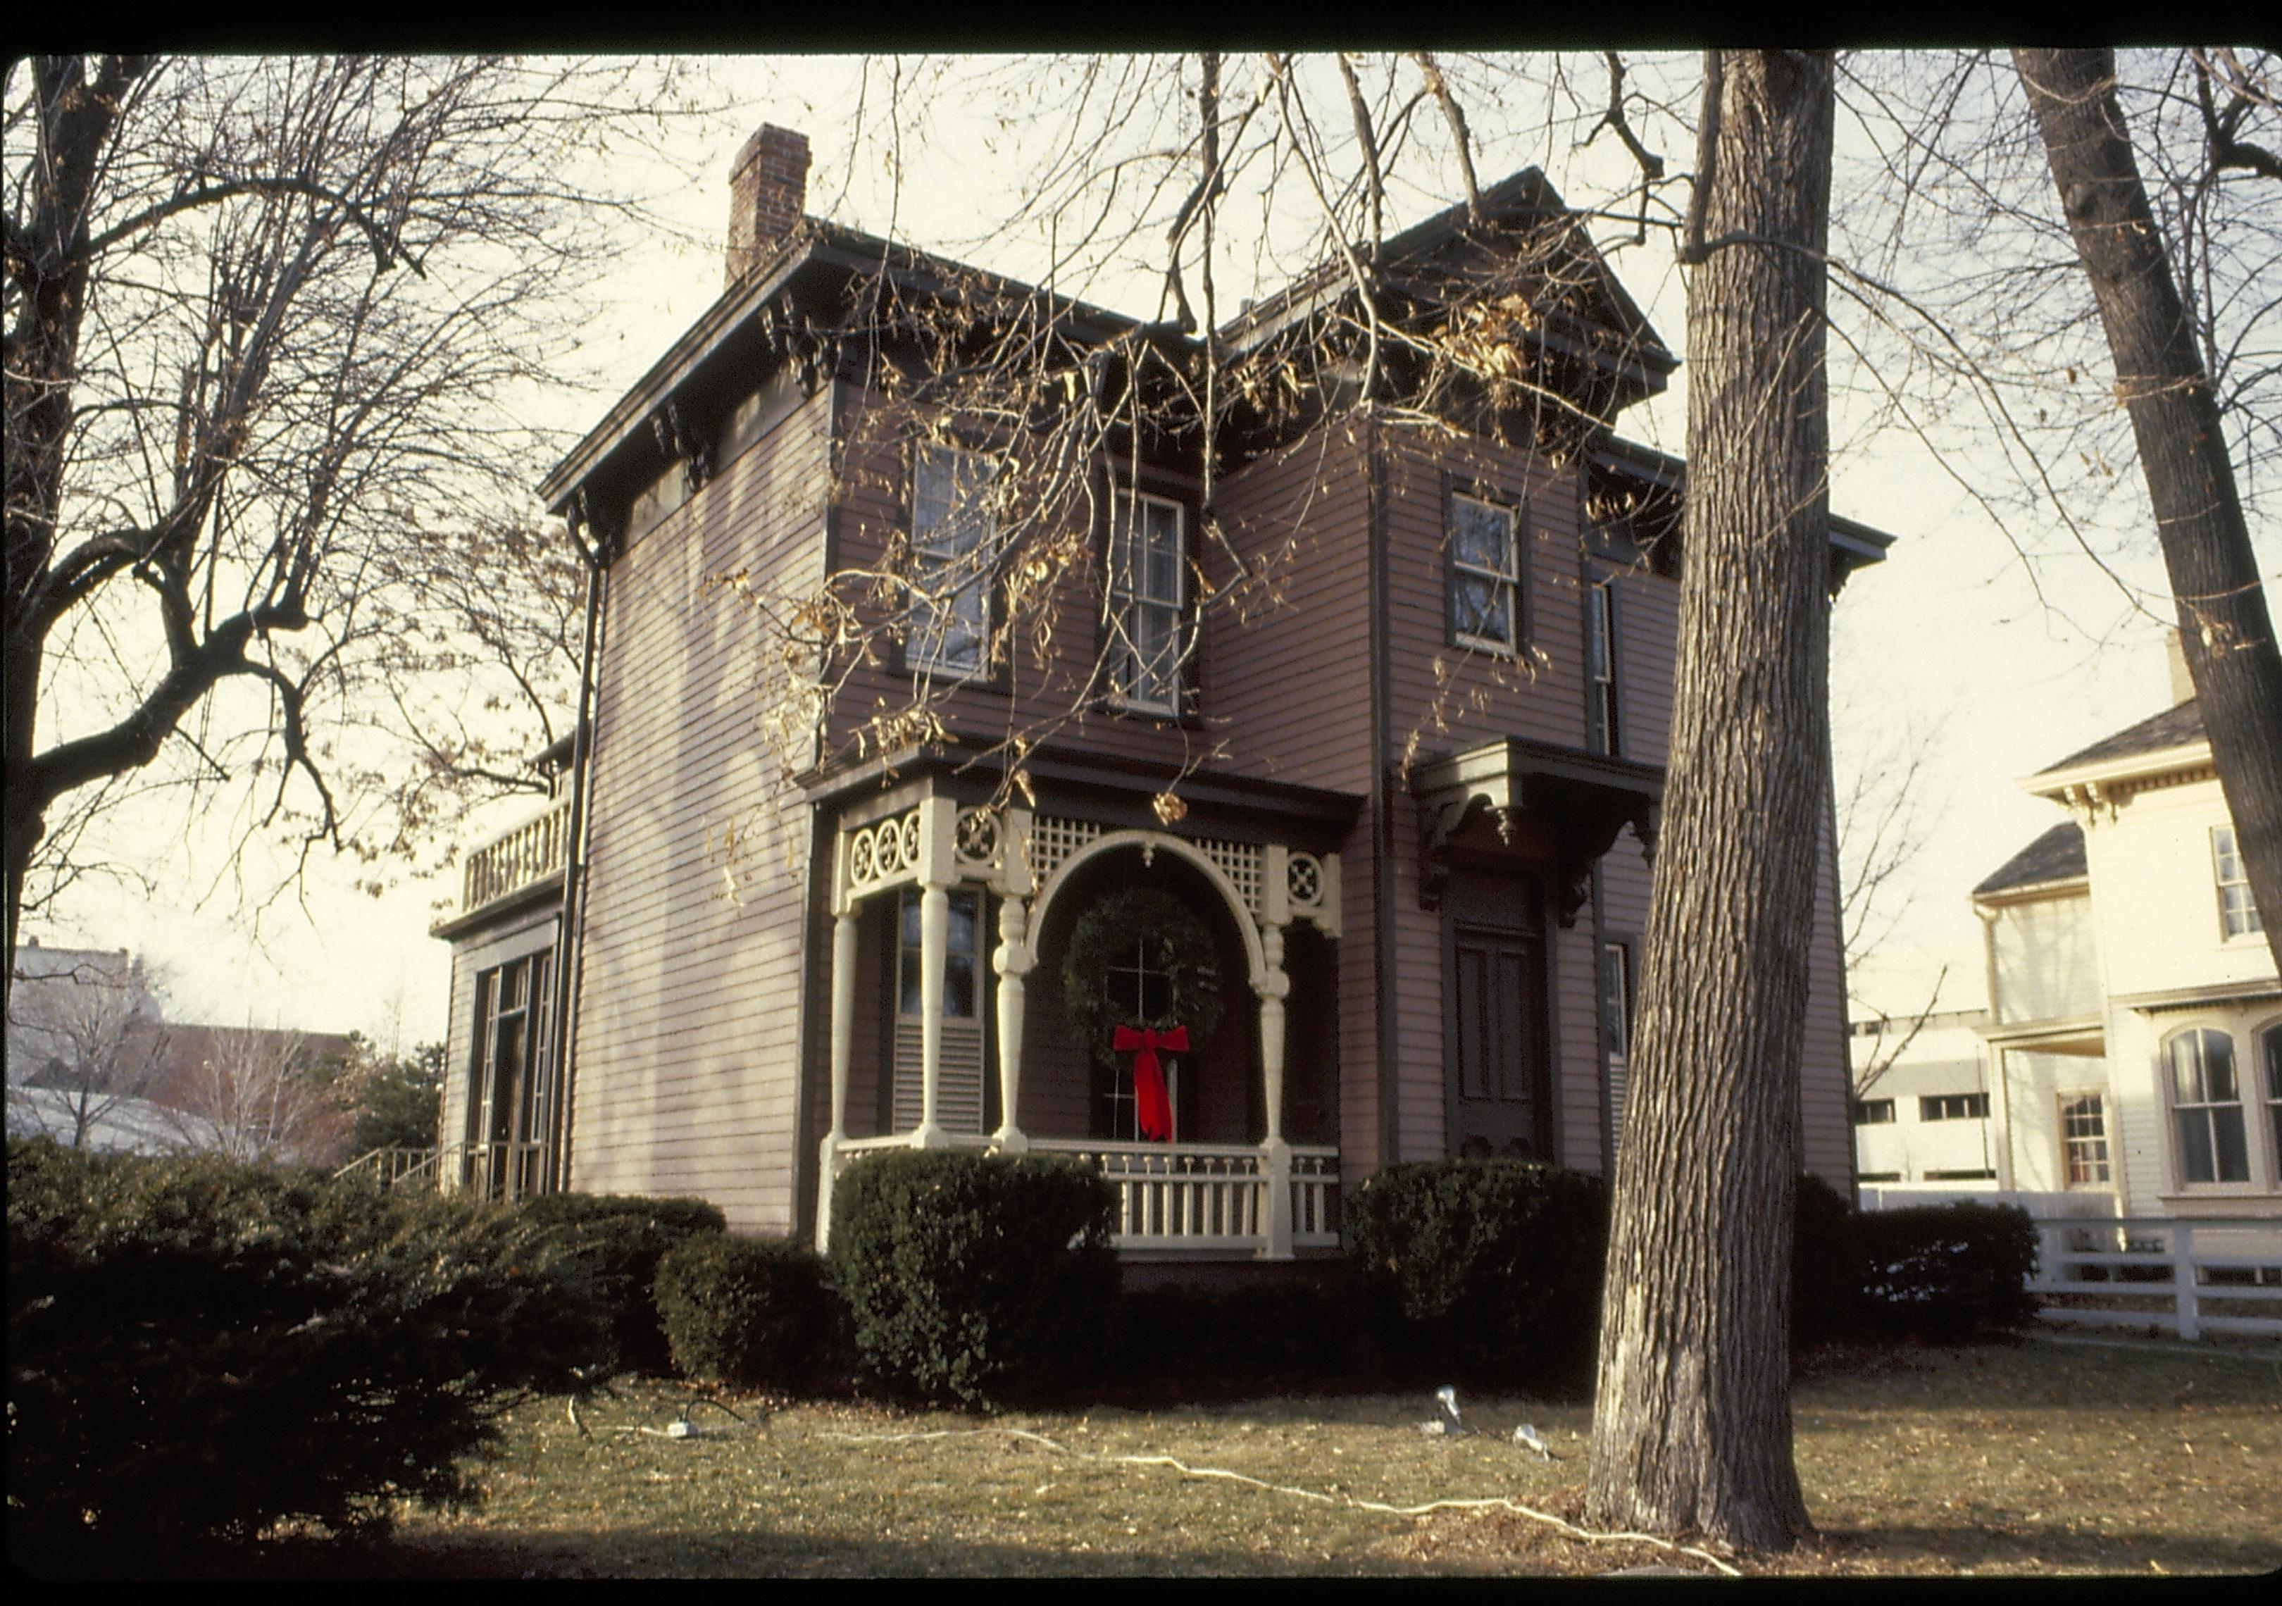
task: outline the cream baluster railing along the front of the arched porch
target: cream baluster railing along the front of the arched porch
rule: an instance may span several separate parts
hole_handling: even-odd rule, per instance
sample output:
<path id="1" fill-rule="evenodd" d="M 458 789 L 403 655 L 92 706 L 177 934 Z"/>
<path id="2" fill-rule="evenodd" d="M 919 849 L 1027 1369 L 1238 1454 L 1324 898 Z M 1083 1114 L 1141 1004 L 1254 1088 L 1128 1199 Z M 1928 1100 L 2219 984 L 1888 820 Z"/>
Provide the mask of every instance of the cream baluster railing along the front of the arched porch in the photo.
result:
<path id="1" fill-rule="evenodd" d="M 835 1170 L 863 1154 L 911 1147 L 908 1134 L 851 1138 L 835 1152 Z M 954 1147 L 990 1147 L 984 1136 L 956 1136 Z M 1118 1195 L 1120 1252 L 1198 1250 L 1271 1255 L 1273 1186 L 1269 1152 L 1257 1143 L 1095 1143 L 1091 1138 L 1029 1138 L 1031 1154 L 1068 1154 L 1095 1166 Z M 1340 1150 L 1289 1145 L 1285 1186 L 1292 1198 L 1289 1248 L 1337 1248 Z"/>

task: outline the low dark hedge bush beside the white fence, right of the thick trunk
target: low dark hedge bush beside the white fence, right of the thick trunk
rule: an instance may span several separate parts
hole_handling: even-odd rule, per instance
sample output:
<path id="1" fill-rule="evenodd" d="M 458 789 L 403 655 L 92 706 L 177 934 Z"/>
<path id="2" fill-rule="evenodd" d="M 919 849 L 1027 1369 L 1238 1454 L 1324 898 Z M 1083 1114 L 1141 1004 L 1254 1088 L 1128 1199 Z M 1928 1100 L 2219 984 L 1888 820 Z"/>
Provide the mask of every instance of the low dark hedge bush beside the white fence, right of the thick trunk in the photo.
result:
<path id="1" fill-rule="evenodd" d="M 1855 1216 L 1862 1296 L 1878 1332 L 1958 1341 L 2036 1316 L 2036 1225 L 2010 1204 L 1924 1204 Z"/>

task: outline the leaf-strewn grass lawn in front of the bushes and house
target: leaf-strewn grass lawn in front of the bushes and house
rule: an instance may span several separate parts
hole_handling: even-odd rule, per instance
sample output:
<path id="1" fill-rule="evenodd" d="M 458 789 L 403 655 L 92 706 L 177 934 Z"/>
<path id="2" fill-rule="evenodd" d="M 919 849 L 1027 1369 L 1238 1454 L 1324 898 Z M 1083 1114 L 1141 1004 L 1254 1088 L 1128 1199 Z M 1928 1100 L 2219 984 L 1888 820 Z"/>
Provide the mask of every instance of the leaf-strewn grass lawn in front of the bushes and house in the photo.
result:
<path id="1" fill-rule="evenodd" d="M 767 1430 L 641 1382 L 509 1421 L 463 1512 L 408 1510 L 358 1570 L 482 1576 L 1597 1574 L 1714 1570 L 1593 1542 L 1588 1405 L 1267 1398 L 977 1419 L 730 1396 Z M 2042 1337 L 1810 1357 L 1794 1392 L 1816 1540 L 1739 1572 L 2245 1574 L 2282 1565 L 2282 1350 Z M 1534 1421 L 1559 1460 L 1511 1442 Z M 1196 1476 L 1189 1469 L 1241 1474 Z M 1260 1487 L 1276 1485 L 1276 1487 Z"/>

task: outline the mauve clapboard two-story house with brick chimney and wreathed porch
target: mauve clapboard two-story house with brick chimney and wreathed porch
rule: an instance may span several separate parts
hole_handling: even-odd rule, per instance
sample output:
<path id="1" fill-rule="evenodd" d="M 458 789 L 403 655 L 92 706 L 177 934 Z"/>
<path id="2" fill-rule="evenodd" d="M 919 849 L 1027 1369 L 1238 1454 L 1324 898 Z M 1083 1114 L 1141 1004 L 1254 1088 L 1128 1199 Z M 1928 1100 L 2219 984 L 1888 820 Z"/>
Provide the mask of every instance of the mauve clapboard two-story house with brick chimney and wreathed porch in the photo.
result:
<path id="1" fill-rule="evenodd" d="M 865 1152 L 1068 1152 L 1127 1250 L 1276 1259 L 1390 1161 L 1607 1168 L 1684 468 L 1613 433 L 1675 358 L 1543 176 L 1216 331 L 1207 456 L 1198 335 L 806 171 L 753 137 L 726 292 L 543 484 L 607 552 L 591 753 L 440 926 L 447 1173 L 822 1236 Z M 1887 541 L 1835 518 L 1832 593 Z M 1848 1186 L 1828 844 L 1816 908 Z"/>

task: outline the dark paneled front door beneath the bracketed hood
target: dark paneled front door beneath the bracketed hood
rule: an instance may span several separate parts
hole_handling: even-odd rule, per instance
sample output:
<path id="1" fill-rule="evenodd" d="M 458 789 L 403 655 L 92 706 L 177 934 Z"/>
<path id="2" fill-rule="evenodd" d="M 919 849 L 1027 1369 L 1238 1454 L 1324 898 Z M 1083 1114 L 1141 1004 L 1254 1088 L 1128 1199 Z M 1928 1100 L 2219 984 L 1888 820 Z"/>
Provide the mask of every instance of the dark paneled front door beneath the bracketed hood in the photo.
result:
<path id="1" fill-rule="evenodd" d="M 1543 938 L 1454 924 L 1449 956 L 1449 1152 L 1547 1161 L 1552 1054 Z"/>

